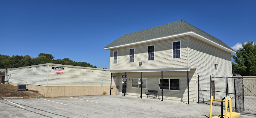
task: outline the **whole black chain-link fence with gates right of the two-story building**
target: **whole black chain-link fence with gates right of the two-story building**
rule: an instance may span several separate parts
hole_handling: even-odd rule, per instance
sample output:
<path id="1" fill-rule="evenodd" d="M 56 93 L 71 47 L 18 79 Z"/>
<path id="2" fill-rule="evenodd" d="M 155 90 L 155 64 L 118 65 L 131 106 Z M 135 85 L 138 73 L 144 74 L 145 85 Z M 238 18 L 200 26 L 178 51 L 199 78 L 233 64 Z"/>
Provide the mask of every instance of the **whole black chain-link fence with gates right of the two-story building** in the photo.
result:
<path id="1" fill-rule="evenodd" d="M 210 96 L 221 100 L 227 95 L 233 112 L 256 115 L 256 77 L 198 76 L 198 103 L 210 104 Z M 221 102 L 213 101 L 213 105 L 221 106 Z"/>

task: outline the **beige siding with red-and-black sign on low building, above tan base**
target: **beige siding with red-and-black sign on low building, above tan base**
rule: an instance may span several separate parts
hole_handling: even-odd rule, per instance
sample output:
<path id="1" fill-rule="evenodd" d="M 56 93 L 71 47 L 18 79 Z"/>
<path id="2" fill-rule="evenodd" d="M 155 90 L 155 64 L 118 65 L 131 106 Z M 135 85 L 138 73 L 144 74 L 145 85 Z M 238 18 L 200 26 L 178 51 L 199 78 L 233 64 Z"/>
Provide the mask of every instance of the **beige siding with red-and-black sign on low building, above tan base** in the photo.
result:
<path id="1" fill-rule="evenodd" d="M 110 86 L 111 73 L 109 70 L 94 70 L 85 68 L 63 67 L 64 73 L 51 73 L 52 66 L 49 67 L 48 86 Z M 57 66 L 61 67 L 61 66 Z M 103 84 L 101 83 L 103 78 Z M 59 79 L 59 83 L 56 83 Z M 81 79 L 84 83 L 81 84 Z M 112 84 L 112 86 L 114 86 Z"/>

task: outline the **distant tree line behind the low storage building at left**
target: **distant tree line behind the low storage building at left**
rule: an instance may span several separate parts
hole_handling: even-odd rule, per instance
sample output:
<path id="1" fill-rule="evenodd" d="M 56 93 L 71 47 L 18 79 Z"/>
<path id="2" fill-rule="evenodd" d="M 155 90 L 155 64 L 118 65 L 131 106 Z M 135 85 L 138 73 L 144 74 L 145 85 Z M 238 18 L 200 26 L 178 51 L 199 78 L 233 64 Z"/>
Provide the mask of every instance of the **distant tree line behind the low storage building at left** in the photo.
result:
<path id="1" fill-rule="evenodd" d="M 46 63 L 97 68 L 96 65 L 93 66 L 90 63 L 86 63 L 86 62 L 72 61 L 69 58 L 54 59 L 54 56 L 52 56 L 52 54 L 40 53 L 38 57 L 35 57 L 35 58 L 34 57 L 31 58 L 29 55 L 8 56 L 8 55 L 0 54 L 0 67 L 2 68 L 18 68 L 18 67 L 26 67 L 30 65 L 46 64 Z"/>

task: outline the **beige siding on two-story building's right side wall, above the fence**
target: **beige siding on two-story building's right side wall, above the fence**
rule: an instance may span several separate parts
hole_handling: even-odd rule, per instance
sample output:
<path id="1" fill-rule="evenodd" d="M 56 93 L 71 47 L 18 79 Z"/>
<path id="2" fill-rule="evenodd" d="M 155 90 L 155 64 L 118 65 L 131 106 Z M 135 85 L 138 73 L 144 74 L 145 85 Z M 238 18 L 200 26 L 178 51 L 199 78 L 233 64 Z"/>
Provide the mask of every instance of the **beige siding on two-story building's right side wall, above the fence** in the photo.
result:
<path id="1" fill-rule="evenodd" d="M 214 64 L 218 64 L 215 69 Z M 189 67 L 197 68 L 200 76 L 232 76 L 231 54 L 189 37 Z"/>

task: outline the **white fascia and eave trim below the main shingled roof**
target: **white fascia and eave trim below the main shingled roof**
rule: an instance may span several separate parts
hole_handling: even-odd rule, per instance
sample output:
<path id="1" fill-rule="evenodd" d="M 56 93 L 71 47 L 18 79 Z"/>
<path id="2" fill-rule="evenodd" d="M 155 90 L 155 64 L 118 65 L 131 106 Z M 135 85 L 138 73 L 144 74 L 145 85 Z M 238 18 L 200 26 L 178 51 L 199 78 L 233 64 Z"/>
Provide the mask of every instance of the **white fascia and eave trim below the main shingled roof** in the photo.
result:
<path id="1" fill-rule="evenodd" d="M 130 43 L 130 44 L 124 44 L 124 45 L 118 45 L 118 46 L 114 46 L 114 47 L 108 47 L 108 48 L 104 48 L 105 50 L 110 50 L 111 48 L 117 48 L 117 47 L 124 47 L 124 46 L 128 46 L 128 45 L 134 45 L 134 44 L 141 44 L 141 43 L 145 43 L 145 42 L 150 42 L 150 41 L 155 41 L 155 40 L 161 40 L 161 39 L 168 39 L 168 38 L 172 38 L 172 37 L 178 37 L 178 36 L 183 36 L 183 35 L 190 35 L 190 36 L 198 36 L 200 38 L 202 38 L 203 40 L 205 40 L 205 42 L 210 42 L 210 44 L 212 45 L 215 45 L 216 47 L 218 48 L 221 48 L 223 50 L 226 50 L 227 52 L 230 52 L 230 53 L 236 53 L 235 51 L 233 50 L 230 50 L 229 48 L 226 48 L 222 45 L 219 45 L 217 44 L 216 42 L 213 42 L 207 38 L 204 38 L 203 36 L 201 35 L 198 35 L 197 33 L 194 33 L 194 32 L 185 32 L 185 33 L 180 33 L 180 34 L 176 34 L 176 35 L 170 35 L 170 36 L 165 36 L 165 37 L 160 37 L 160 38 L 154 38 L 154 39 L 149 39 L 149 40 L 146 40 L 146 41 L 139 41 L 139 42 L 134 42 L 134 43 Z M 201 39 L 201 40 L 202 40 Z"/>

